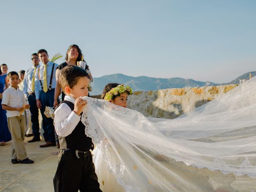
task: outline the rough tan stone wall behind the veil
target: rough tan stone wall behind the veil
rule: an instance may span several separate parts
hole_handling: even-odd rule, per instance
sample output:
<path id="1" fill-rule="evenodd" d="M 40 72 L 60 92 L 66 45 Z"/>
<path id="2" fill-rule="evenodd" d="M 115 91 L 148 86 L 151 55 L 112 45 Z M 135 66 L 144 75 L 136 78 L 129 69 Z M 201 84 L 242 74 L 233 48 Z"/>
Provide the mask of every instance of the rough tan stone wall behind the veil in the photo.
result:
<path id="1" fill-rule="evenodd" d="M 238 85 L 170 88 L 157 91 L 136 91 L 128 96 L 128 108 L 147 117 L 174 119 L 225 94 Z M 100 96 L 92 96 L 100 98 Z"/>

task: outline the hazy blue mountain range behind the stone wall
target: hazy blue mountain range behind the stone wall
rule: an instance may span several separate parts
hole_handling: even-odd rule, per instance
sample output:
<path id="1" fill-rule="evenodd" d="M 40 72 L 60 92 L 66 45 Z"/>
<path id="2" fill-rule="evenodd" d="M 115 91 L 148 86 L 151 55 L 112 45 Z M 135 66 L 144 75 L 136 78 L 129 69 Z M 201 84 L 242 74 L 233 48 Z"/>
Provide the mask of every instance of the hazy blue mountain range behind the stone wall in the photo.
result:
<path id="1" fill-rule="evenodd" d="M 196 81 L 193 79 L 184 79 L 184 78 L 152 78 L 147 76 L 132 77 L 126 76 L 124 74 L 112 74 L 106 75 L 98 78 L 93 78 L 91 83 L 92 92 L 90 95 L 99 95 L 102 94 L 103 88 L 108 83 L 121 83 L 129 85 L 134 91 L 139 90 L 159 90 L 167 88 L 184 88 L 184 87 L 202 87 L 202 86 L 218 86 L 223 84 L 239 84 L 239 79 L 249 79 L 249 74 L 251 73 L 252 77 L 256 76 L 256 71 L 248 72 L 239 76 L 235 80 L 217 84 L 213 82 L 202 82 Z"/>

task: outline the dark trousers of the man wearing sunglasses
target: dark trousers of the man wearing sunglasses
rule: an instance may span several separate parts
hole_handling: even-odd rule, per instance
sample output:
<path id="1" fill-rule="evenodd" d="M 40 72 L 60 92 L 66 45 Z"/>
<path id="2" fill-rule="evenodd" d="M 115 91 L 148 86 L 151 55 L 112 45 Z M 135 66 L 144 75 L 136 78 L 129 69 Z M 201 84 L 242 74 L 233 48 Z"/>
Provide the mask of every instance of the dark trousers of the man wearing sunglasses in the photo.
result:
<path id="1" fill-rule="evenodd" d="M 36 96 L 28 95 L 28 103 L 30 104 L 32 131 L 35 139 L 40 139 L 39 133 L 39 120 L 38 120 L 38 108 L 36 106 Z"/>

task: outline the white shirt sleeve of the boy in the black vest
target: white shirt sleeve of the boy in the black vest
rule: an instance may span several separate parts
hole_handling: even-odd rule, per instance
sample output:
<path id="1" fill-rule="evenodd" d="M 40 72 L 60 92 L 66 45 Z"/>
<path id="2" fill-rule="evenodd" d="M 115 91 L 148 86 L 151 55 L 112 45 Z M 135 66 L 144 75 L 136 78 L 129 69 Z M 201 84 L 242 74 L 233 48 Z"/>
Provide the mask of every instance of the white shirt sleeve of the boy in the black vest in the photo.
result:
<path id="1" fill-rule="evenodd" d="M 58 136 L 66 137 L 72 133 L 80 121 L 80 117 L 62 103 L 54 112 L 55 130 Z"/>

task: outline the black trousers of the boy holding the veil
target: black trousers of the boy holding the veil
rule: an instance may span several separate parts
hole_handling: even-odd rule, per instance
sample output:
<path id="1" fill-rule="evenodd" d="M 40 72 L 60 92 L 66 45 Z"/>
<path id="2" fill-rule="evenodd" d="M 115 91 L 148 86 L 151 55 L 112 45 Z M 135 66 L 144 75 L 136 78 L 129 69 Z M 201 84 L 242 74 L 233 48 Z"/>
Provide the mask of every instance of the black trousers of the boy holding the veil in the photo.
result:
<path id="1" fill-rule="evenodd" d="M 55 192 L 102 192 L 91 152 L 86 154 L 60 150 L 58 167 L 53 178 Z"/>

